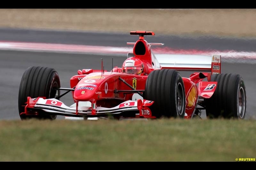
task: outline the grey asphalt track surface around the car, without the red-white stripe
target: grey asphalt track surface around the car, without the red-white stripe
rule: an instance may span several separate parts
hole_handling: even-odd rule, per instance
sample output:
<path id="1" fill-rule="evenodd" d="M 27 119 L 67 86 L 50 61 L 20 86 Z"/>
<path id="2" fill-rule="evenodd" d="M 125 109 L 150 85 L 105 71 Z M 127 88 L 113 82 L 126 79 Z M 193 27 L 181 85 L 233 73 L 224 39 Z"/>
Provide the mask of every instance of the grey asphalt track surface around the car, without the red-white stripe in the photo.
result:
<path id="1" fill-rule="evenodd" d="M 157 34 L 156 34 L 157 35 Z M 0 41 L 22 41 L 40 43 L 60 43 L 76 45 L 97 45 L 126 47 L 126 42 L 137 41 L 137 36 L 121 33 L 88 33 L 76 31 L 42 31 L 25 29 L 0 29 Z M 162 42 L 165 47 L 175 49 L 214 49 L 256 51 L 256 39 L 242 39 L 229 37 L 179 37 L 147 36 L 148 42 Z M 57 70 L 60 76 L 61 87 L 69 88 L 69 79 L 81 69 L 101 69 L 103 59 L 105 70 L 113 66 L 121 66 L 126 56 L 121 55 L 94 55 L 56 52 L 29 52 L 0 50 L 0 120 L 19 120 L 18 94 L 23 72 L 29 66 L 45 66 Z M 222 73 L 237 73 L 245 82 L 247 96 L 247 118 L 256 118 L 256 74 L 255 61 L 222 60 Z M 188 77 L 191 72 L 180 72 Z M 72 95 L 68 93 L 61 98 L 67 106 L 73 104 Z M 63 116 L 58 116 L 63 119 Z"/>

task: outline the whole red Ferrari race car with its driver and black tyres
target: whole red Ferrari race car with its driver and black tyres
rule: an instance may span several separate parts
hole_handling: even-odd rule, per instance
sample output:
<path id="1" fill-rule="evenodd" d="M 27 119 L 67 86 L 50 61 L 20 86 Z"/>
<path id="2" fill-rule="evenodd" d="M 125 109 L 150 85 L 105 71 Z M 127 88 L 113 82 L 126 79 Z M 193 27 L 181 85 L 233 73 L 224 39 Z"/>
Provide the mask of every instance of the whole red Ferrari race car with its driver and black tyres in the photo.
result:
<path id="1" fill-rule="evenodd" d="M 70 88 L 60 87 L 56 70 L 31 66 L 23 74 L 19 90 L 19 115 L 56 119 L 57 115 L 78 119 L 185 118 L 205 109 L 209 118 L 246 116 L 246 92 L 238 74 L 221 74 L 221 56 L 154 54 L 145 35 L 131 31 L 139 40 L 122 68 L 110 71 L 82 69 L 70 78 Z M 189 78 L 179 71 L 193 71 Z M 61 91 L 65 91 L 61 94 Z M 72 92 L 74 104 L 60 98 Z"/>

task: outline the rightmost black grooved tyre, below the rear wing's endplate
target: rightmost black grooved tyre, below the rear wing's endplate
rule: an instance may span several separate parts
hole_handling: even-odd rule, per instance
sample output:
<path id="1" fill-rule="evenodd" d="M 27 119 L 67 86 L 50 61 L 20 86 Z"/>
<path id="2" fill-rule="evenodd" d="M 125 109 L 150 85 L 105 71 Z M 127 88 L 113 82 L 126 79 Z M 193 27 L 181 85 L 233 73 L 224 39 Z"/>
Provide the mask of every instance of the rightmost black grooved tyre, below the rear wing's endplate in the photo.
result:
<path id="1" fill-rule="evenodd" d="M 208 118 L 246 118 L 246 91 L 238 74 L 214 74 L 217 87 L 212 97 L 204 99 Z"/>

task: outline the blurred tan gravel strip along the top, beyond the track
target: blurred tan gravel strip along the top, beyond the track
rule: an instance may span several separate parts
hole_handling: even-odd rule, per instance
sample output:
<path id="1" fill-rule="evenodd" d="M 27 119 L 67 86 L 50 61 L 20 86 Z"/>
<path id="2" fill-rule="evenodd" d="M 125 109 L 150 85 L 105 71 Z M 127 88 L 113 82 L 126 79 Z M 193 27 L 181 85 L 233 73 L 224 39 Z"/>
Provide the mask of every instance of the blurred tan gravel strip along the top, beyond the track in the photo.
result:
<path id="1" fill-rule="evenodd" d="M 0 9 L 0 27 L 256 37 L 256 9 Z"/>

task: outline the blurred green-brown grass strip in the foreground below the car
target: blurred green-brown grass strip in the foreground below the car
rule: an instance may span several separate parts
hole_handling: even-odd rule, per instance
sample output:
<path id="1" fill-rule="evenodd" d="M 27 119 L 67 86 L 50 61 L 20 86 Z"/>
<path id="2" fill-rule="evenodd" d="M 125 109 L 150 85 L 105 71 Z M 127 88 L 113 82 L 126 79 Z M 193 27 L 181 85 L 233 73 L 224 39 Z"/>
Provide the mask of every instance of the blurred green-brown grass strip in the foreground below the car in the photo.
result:
<path id="1" fill-rule="evenodd" d="M 0 121 L 0 161 L 256 158 L 255 120 Z"/>

